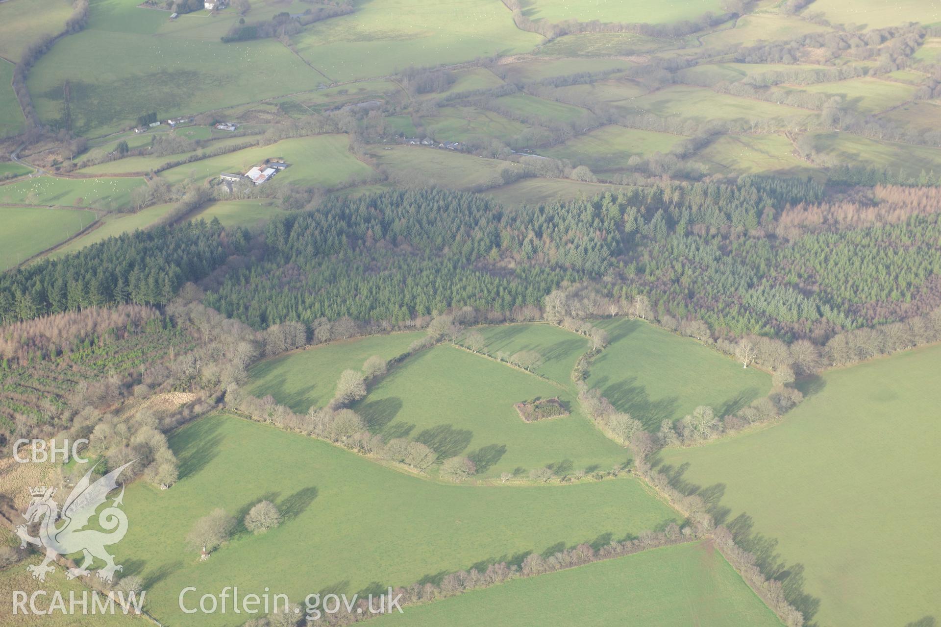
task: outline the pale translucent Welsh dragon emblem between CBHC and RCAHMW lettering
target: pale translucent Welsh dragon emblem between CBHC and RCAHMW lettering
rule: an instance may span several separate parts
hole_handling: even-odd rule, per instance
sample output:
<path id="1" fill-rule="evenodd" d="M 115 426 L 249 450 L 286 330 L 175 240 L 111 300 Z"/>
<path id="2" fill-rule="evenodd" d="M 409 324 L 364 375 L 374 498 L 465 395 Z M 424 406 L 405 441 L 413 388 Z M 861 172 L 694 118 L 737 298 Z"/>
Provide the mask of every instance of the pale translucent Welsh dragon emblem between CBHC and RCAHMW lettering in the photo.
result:
<path id="1" fill-rule="evenodd" d="M 98 526 L 104 531 L 89 529 L 88 523 L 96 515 L 96 511 L 106 500 L 108 494 L 118 488 L 118 476 L 121 471 L 134 462 L 125 463 L 120 468 L 112 470 L 94 482 L 90 480 L 94 467 L 91 468 L 72 489 L 72 493 L 62 504 L 59 512 L 58 504 L 53 500 L 56 488 L 31 488 L 33 495 L 26 509 L 24 518 L 26 525 L 16 527 L 16 535 L 20 537 L 20 548 L 26 548 L 26 543 L 45 548 L 46 556 L 41 564 L 27 566 L 33 573 L 34 579 L 46 580 L 46 573 L 53 572 L 56 567 L 52 565 L 56 556 L 68 556 L 78 552 L 82 553 L 82 563 L 68 569 L 66 576 L 69 579 L 90 574 L 88 567 L 95 558 L 104 561 L 104 568 L 99 569 L 97 575 L 102 581 L 110 583 L 116 571 L 122 567 L 115 564 L 114 556 L 104 548 L 106 544 L 119 542 L 127 533 L 127 516 L 119 508 L 124 498 L 124 486 L 120 486 L 120 494 L 112 499 L 111 504 L 97 514 Z M 29 535 L 26 526 L 40 523 L 39 538 Z M 62 524 L 64 523 L 64 525 Z"/>

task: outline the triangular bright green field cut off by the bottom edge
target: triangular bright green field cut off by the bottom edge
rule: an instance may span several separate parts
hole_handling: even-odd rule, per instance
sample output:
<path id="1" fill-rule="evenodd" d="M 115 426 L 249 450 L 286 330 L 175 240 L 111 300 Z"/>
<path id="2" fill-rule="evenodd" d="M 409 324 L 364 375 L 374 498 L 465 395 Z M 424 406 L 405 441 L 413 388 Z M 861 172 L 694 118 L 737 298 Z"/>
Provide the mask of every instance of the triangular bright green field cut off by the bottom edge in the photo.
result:
<path id="1" fill-rule="evenodd" d="M 703 541 L 515 579 L 379 617 L 376 624 L 774 627 L 781 622 Z"/>

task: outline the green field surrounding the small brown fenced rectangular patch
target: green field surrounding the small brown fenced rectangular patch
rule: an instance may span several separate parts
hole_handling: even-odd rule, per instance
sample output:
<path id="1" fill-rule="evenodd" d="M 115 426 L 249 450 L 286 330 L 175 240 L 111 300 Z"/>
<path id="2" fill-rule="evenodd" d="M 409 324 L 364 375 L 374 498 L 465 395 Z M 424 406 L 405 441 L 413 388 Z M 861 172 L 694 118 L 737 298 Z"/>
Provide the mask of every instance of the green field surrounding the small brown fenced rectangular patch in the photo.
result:
<path id="1" fill-rule="evenodd" d="M 573 351 L 566 341 L 557 350 L 566 353 L 567 362 Z M 570 415 L 526 423 L 513 406 L 556 397 Z M 508 472 L 525 478 L 543 466 L 560 476 L 579 470 L 608 471 L 631 458 L 630 451 L 614 444 L 582 415 L 570 385 L 552 384 L 454 346 L 439 346 L 407 359 L 354 409 L 370 431 L 386 440 L 407 437 L 422 442 L 439 454 L 439 460 L 469 457 L 481 477 Z"/>

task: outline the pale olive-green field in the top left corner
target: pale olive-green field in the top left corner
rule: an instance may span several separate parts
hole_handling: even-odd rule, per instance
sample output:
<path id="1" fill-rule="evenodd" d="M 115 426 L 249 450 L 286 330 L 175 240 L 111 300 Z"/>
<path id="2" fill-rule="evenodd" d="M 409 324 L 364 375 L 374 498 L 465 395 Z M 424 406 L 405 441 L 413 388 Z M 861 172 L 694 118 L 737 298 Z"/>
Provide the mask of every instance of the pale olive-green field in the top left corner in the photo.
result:
<path id="1" fill-rule="evenodd" d="M 57 35 L 72 15 L 66 0 L 7 0 L 0 3 L 0 56 L 16 63 L 24 48 L 44 35 Z"/>

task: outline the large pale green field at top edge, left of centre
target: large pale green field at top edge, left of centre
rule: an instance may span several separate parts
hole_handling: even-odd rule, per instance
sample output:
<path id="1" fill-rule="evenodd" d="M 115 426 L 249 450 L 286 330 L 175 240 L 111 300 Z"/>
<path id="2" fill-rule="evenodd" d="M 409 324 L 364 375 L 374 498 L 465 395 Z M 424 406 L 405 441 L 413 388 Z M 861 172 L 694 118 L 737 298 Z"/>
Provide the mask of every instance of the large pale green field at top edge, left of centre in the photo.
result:
<path id="1" fill-rule="evenodd" d="M 311 24 L 293 41 L 327 83 L 388 76 L 410 65 L 525 53 L 543 39 L 519 30 L 494 0 L 363 0 L 355 13 Z"/>

